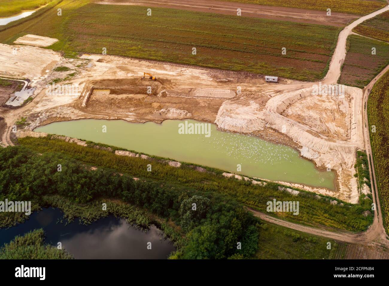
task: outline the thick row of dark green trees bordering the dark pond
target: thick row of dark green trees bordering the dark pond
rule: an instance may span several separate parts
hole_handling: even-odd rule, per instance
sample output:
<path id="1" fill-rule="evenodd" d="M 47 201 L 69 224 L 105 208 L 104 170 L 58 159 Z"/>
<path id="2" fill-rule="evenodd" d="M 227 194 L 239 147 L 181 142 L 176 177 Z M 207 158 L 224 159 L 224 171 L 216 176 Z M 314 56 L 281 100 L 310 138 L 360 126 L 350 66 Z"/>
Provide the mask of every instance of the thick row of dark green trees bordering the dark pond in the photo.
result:
<path id="1" fill-rule="evenodd" d="M 60 195 L 83 204 L 119 198 L 166 219 L 186 234 L 175 258 L 248 258 L 258 247 L 256 221 L 235 200 L 140 178 L 108 168 L 91 168 L 65 154 L 13 146 L 0 150 L 0 200 L 33 200 Z"/>

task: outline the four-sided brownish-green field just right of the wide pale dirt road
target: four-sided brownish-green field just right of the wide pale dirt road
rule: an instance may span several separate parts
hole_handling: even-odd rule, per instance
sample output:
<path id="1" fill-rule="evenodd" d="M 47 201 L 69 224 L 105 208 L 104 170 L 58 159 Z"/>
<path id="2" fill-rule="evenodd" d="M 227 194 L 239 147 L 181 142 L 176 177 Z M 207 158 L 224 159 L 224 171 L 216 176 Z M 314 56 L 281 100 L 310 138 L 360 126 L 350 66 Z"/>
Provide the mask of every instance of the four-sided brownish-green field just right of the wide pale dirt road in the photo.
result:
<path id="1" fill-rule="evenodd" d="M 375 54 L 372 54 L 375 48 Z M 358 35 L 347 38 L 347 55 L 339 82 L 363 88 L 389 64 L 389 44 Z"/>

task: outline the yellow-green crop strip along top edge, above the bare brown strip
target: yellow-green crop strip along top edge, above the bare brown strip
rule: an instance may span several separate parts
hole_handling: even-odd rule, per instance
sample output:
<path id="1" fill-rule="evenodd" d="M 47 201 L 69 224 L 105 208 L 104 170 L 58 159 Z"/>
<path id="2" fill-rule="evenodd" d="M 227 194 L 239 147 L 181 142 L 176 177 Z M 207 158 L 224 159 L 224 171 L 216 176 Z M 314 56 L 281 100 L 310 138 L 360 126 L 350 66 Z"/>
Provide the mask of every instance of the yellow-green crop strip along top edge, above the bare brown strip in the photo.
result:
<path id="1" fill-rule="evenodd" d="M 343 12 L 356 15 L 366 15 L 385 7 L 385 1 L 368 0 L 224 0 L 230 2 L 252 3 L 260 5 L 281 6 L 301 9 Z"/>

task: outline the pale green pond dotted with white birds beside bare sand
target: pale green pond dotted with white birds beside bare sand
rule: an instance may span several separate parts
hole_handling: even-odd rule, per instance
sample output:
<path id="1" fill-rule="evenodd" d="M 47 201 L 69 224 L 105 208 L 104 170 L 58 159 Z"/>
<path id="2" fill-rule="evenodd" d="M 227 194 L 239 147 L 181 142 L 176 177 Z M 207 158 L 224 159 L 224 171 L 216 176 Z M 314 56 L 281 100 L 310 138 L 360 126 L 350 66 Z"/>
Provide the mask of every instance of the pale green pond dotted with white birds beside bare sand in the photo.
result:
<path id="1" fill-rule="evenodd" d="M 81 119 L 54 122 L 34 131 L 100 142 L 272 181 L 335 188 L 334 172 L 317 170 L 314 163 L 300 158 L 298 151 L 291 147 L 250 135 L 219 131 L 213 124 L 209 137 L 206 134 L 180 134 L 180 123 L 185 120 L 165 120 L 157 124 Z M 103 132 L 104 125 L 106 132 Z M 238 164 L 241 165 L 240 172 L 237 171 Z"/>

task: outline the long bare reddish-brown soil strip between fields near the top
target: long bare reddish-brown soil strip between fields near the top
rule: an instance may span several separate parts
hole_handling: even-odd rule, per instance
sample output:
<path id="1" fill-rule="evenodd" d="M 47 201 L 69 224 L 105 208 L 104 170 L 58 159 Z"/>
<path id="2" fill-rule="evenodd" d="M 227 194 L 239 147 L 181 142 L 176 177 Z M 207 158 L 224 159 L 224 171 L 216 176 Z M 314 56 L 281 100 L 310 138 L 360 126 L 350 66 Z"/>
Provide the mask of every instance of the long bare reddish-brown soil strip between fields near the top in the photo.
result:
<path id="1" fill-rule="evenodd" d="M 96 4 L 105 5 L 142 5 L 147 7 L 171 8 L 189 11 L 217 13 L 224 15 L 237 15 L 241 9 L 242 16 L 262 19 L 284 20 L 300 23 L 319 24 L 343 27 L 358 15 L 327 11 L 307 10 L 298 8 L 276 7 L 247 3 L 225 2 L 218 0 L 103 0 Z"/>

